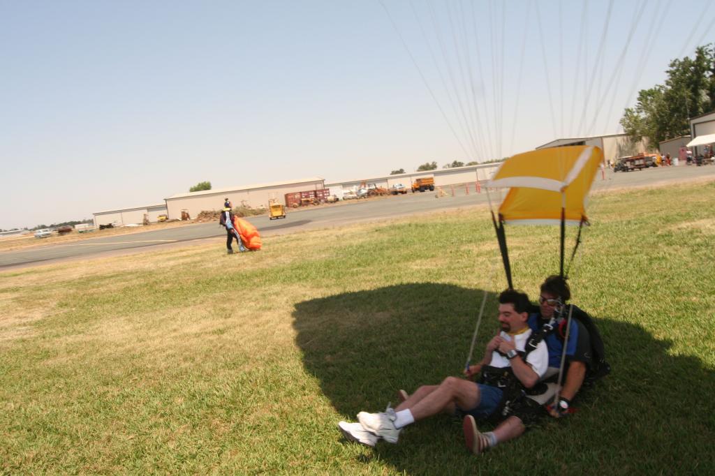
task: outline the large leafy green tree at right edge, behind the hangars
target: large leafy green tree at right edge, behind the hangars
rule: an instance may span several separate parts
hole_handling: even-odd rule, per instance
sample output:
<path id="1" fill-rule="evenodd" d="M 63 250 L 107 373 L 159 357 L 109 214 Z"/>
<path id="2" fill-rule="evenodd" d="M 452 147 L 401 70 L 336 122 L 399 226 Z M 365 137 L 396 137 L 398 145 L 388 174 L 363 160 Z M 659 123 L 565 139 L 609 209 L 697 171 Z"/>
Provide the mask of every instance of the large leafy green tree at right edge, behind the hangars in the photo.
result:
<path id="1" fill-rule="evenodd" d="M 694 58 L 674 59 L 664 85 L 638 91 L 636 106 L 623 113 L 621 125 L 633 141 L 657 147 L 690 133 L 689 119 L 715 109 L 715 49 L 699 46 Z"/>

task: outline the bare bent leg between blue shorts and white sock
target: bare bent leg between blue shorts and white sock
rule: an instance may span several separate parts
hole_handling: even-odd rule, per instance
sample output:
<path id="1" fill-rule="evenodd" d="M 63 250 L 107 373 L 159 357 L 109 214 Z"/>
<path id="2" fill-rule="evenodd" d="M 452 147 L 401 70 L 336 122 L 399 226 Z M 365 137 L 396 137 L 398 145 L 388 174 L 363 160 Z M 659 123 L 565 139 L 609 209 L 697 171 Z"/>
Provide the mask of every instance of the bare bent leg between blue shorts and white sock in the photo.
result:
<path id="1" fill-rule="evenodd" d="M 479 398 L 479 387 L 474 382 L 458 377 L 447 377 L 436 389 L 425 395 L 414 406 L 405 405 L 405 408 L 410 409 L 417 421 L 440 412 L 454 410 L 455 405 L 463 410 L 471 410 L 479 404 Z"/>

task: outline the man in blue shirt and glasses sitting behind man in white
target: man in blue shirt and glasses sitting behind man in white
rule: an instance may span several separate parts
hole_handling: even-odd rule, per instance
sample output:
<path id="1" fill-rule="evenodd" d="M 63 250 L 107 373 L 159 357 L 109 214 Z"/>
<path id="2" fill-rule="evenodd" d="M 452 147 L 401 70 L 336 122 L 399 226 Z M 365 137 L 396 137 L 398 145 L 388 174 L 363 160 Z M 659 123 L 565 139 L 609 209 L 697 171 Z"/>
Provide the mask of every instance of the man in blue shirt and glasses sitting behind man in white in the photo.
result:
<path id="1" fill-rule="evenodd" d="M 541 294 L 538 298 L 539 312 L 530 314 L 528 318 L 528 325 L 534 332 L 541 329 L 544 324 L 548 324 L 552 318 L 556 319 L 552 323 L 553 331 L 544 338 L 548 348 L 549 367 L 545 375 L 546 380 L 549 377 L 556 377 L 561 367 L 561 356 L 568 324 L 569 309 L 566 306 L 568 299 L 571 299 L 571 289 L 569 289 L 566 279 L 556 275 L 549 276 L 541 284 Z M 573 306 L 572 314 L 574 313 L 583 313 L 583 311 Z M 558 405 L 549 410 L 551 416 L 561 417 L 568 414 L 571 400 L 581 389 L 586 371 L 591 366 L 592 355 L 591 336 L 588 329 L 572 315 L 571 328 L 568 330 L 568 342 L 566 343 L 566 362 L 563 365 L 565 378 L 559 382 L 563 387 L 559 393 Z"/>

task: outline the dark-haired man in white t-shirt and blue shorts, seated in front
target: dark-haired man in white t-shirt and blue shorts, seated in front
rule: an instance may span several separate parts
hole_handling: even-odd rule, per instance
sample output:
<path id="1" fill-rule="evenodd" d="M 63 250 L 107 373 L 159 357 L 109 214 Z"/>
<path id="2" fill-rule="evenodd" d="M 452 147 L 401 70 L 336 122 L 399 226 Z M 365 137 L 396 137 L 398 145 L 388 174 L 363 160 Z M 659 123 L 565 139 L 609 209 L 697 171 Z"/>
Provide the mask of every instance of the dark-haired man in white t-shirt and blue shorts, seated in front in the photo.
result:
<path id="1" fill-rule="evenodd" d="M 380 413 L 360 412 L 359 422 L 338 423 L 342 434 L 368 446 L 375 446 L 379 440 L 397 443 L 403 427 L 448 412 L 463 416 L 465 443 L 475 454 L 520 436 L 526 427 L 518 409 L 520 402 L 528 400 L 523 389 L 536 385 L 548 367 L 544 342 L 538 342 L 528 354 L 524 352 L 531 336 L 529 305 L 523 292 L 507 289 L 499 294 L 501 332 L 489 341 L 481 362 L 464 372 L 466 377 L 481 373 L 483 383 L 447 377 L 440 385 L 423 385 L 413 395 L 400 390 L 404 401 L 398 407 Z M 481 433 L 475 419 L 499 424 L 493 432 Z"/>

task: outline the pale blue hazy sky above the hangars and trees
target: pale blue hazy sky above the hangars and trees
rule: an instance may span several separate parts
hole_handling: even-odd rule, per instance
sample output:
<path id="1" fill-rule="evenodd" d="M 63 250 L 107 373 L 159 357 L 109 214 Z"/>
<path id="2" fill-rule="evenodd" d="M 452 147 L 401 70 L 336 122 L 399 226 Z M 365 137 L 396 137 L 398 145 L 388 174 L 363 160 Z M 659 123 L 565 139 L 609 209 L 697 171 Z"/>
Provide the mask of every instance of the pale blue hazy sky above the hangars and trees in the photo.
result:
<path id="1" fill-rule="evenodd" d="M 0 228 L 613 134 L 711 3 L 2 0 Z"/>

